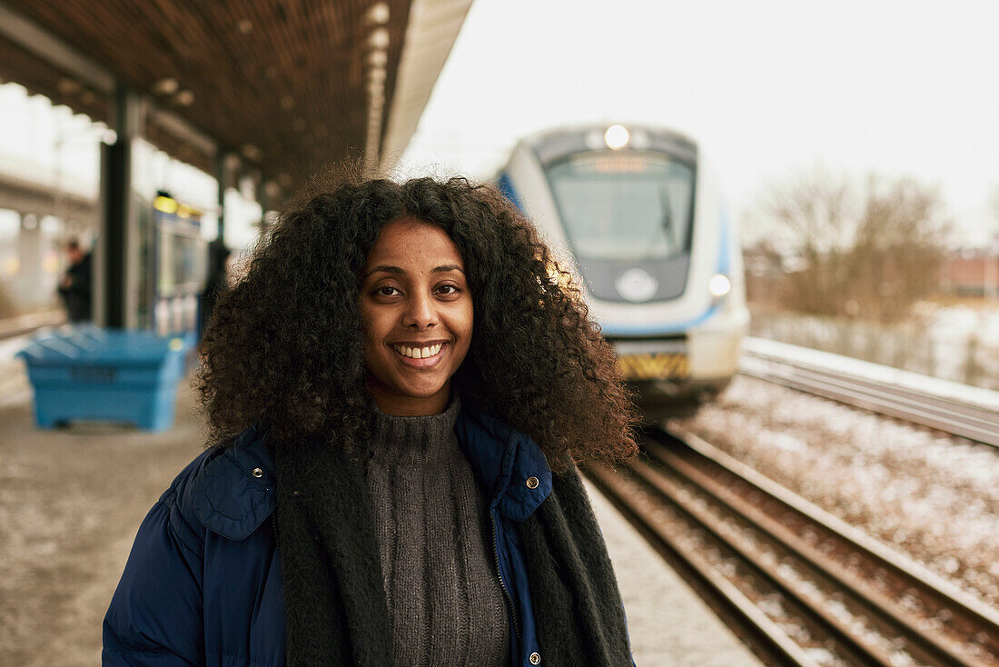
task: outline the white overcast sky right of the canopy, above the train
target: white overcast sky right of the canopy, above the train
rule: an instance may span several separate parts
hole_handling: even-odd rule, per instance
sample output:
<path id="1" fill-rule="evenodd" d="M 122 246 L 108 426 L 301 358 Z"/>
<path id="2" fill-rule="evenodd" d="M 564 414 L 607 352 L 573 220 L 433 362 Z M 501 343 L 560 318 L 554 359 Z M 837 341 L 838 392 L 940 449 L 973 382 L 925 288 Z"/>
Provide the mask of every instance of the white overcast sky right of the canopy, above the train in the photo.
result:
<path id="1" fill-rule="evenodd" d="M 474 0 L 402 168 L 482 178 L 521 135 L 594 120 L 691 135 L 743 218 L 821 164 L 938 185 L 981 242 L 999 2 Z"/>

